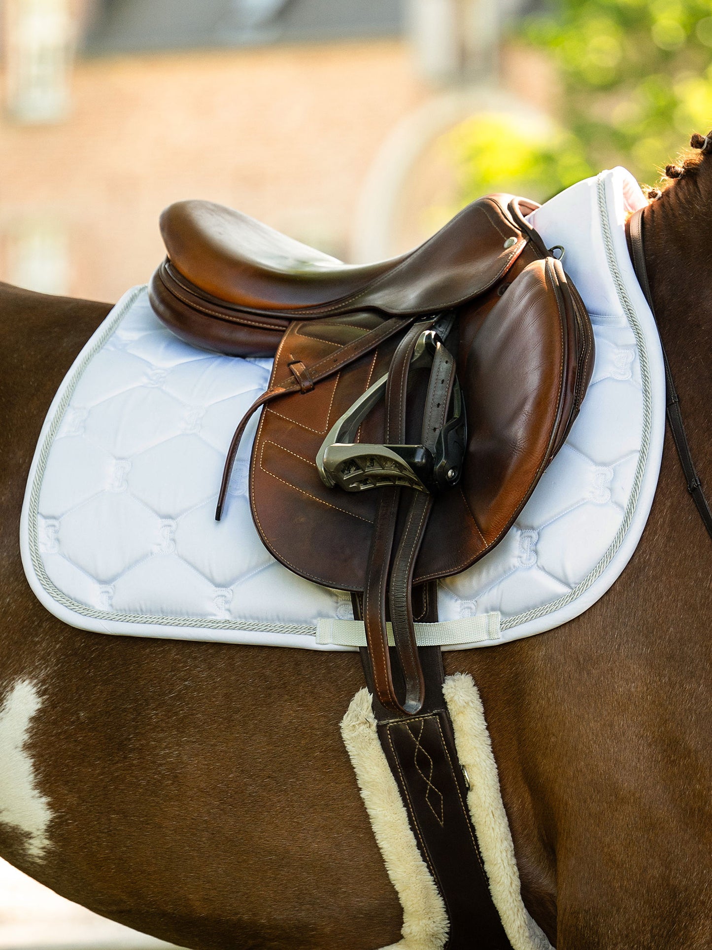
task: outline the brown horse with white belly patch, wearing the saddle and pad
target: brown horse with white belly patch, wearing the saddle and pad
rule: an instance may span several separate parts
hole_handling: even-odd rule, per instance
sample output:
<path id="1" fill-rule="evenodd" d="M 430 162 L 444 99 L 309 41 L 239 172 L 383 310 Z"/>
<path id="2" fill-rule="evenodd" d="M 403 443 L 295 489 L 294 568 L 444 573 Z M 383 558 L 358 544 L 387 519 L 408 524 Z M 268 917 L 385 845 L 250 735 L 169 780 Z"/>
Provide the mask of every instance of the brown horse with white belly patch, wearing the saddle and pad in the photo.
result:
<path id="1" fill-rule="evenodd" d="M 646 208 L 646 262 L 712 485 L 712 157 Z M 0 853 L 196 948 L 373 950 L 401 908 L 339 733 L 358 656 L 104 637 L 34 599 L 32 451 L 104 304 L 0 291 Z M 712 946 L 712 543 L 668 439 L 646 532 L 584 616 L 445 654 L 482 694 L 524 902 L 559 950 Z"/>

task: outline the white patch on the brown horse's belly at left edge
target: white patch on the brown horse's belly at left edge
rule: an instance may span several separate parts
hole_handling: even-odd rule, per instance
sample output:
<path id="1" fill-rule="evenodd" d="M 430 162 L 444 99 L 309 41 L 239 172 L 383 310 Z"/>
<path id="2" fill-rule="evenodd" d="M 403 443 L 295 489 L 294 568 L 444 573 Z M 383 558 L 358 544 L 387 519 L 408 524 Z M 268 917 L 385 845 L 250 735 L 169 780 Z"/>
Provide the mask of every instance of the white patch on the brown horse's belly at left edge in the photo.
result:
<path id="1" fill-rule="evenodd" d="M 42 705 L 27 679 L 19 679 L 0 707 L 0 822 L 27 835 L 28 856 L 43 857 L 52 818 L 49 800 L 37 788 L 26 749 L 32 716 Z"/>

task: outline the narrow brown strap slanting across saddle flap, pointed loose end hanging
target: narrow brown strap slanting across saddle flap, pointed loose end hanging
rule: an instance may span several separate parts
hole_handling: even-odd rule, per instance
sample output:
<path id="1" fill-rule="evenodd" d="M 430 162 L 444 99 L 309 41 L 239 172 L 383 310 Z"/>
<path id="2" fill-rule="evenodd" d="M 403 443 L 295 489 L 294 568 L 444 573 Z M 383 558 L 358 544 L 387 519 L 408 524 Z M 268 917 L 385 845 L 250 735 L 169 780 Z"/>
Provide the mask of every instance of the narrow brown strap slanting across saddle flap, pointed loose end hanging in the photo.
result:
<path id="1" fill-rule="evenodd" d="M 233 439 L 228 449 L 228 455 L 222 472 L 220 490 L 217 495 L 217 505 L 215 507 L 216 522 L 219 522 L 222 517 L 225 499 L 227 498 L 228 488 L 230 486 L 230 478 L 233 474 L 234 461 L 237 458 L 237 450 L 240 447 L 242 436 L 245 434 L 247 424 L 257 409 L 262 409 L 274 399 L 289 395 L 292 392 L 298 392 L 300 390 L 305 392 L 313 389 L 315 383 L 327 379 L 328 376 L 333 375 L 335 372 L 343 370 L 349 363 L 355 362 L 357 359 L 365 356 L 366 353 L 381 346 L 385 340 L 388 340 L 395 333 L 403 332 L 415 319 L 415 316 L 392 316 L 384 320 L 378 327 L 367 331 L 357 340 L 352 340 L 350 343 L 347 343 L 346 346 L 339 347 L 338 350 L 329 353 L 328 356 L 318 360 L 312 366 L 304 367 L 303 364 L 300 364 L 299 371 L 292 372 L 288 379 L 282 380 L 281 383 L 273 386 L 272 389 L 267 390 L 267 392 L 263 392 L 254 400 L 253 405 L 247 410 L 238 423 L 237 428 L 234 430 Z M 305 379 L 307 380 L 306 384 Z"/>

